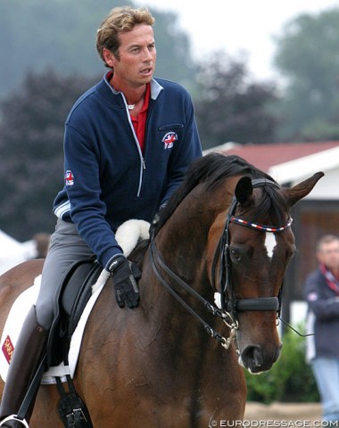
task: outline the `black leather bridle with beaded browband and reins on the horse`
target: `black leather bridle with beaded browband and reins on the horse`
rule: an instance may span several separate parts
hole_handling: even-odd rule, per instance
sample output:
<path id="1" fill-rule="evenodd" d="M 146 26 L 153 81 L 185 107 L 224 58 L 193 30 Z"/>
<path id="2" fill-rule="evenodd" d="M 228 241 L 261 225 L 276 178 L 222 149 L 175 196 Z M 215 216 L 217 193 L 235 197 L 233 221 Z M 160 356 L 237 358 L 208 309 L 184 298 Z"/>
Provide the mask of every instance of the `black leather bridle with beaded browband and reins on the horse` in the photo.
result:
<path id="1" fill-rule="evenodd" d="M 277 183 L 265 179 L 255 179 L 252 180 L 252 187 L 259 187 L 259 186 L 265 186 L 265 185 L 271 185 L 277 188 L 280 188 Z M 229 251 L 229 225 L 230 223 L 234 223 L 239 226 L 245 226 L 245 227 L 251 227 L 258 231 L 265 231 L 269 233 L 279 233 L 284 231 L 287 227 L 290 227 L 292 224 L 292 218 L 289 218 L 288 221 L 284 226 L 266 226 L 266 225 L 258 225 L 255 223 L 252 223 L 250 221 L 244 220 L 242 218 L 235 217 L 236 213 L 236 207 L 237 207 L 238 201 L 236 200 L 236 195 L 233 196 L 230 208 L 227 212 L 227 218 L 225 222 L 225 226 L 222 232 L 222 235 L 219 239 L 219 244 L 217 246 L 217 250 L 215 251 L 214 259 L 212 262 L 212 268 L 211 268 L 211 276 L 212 276 L 212 284 L 217 284 L 219 282 L 219 285 L 217 285 L 216 289 L 219 290 L 220 293 L 220 301 L 221 305 L 220 307 L 215 306 L 208 300 L 205 300 L 202 295 L 200 295 L 198 292 L 195 292 L 195 290 L 187 284 L 180 276 L 178 276 L 175 272 L 173 272 L 166 263 L 161 259 L 161 256 L 159 254 L 159 251 L 156 247 L 154 237 L 151 238 L 151 259 L 152 259 L 152 268 L 155 276 L 159 280 L 159 282 L 172 294 L 173 297 L 175 297 L 178 302 L 184 306 L 189 313 L 191 313 L 205 328 L 206 332 L 211 335 L 214 339 L 218 340 L 221 345 L 228 349 L 232 340 L 236 336 L 236 330 L 238 329 L 238 320 L 237 320 L 237 313 L 238 312 L 244 312 L 244 311 L 266 311 L 266 310 L 274 310 L 277 312 L 277 317 L 280 313 L 280 307 L 281 307 L 281 291 L 282 288 L 280 288 L 278 297 L 258 297 L 255 299 L 233 299 L 232 294 L 234 290 L 234 286 L 232 283 L 232 275 L 231 275 L 231 259 L 230 259 L 230 251 Z M 217 264 L 218 260 L 220 260 L 219 263 L 219 281 L 216 280 L 216 270 L 217 270 Z M 161 276 L 161 273 L 159 271 L 159 268 L 157 268 L 157 265 L 164 271 L 168 276 L 170 276 L 170 279 L 173 280 L 173 282 L 181 287 L 183 290 L 194 296 L 195 299 L 199 300 L 205 309 L 207 309 L 209 312 L 211 312 L 212 315 L 216 317 L 222 318 L 223 322 L 230 328 L 230 335 L 228 338 L 225 338 L 218 332 L 216 332 L 211 325 L 209 325 L 206 321 L 203 320 L 200 315 L 198 315 L 194 309 L 192 309 L 185 300 L 180 297 L 178 292 L 173 288 L 171 284 L 169 284 L 163 276 Z"/>

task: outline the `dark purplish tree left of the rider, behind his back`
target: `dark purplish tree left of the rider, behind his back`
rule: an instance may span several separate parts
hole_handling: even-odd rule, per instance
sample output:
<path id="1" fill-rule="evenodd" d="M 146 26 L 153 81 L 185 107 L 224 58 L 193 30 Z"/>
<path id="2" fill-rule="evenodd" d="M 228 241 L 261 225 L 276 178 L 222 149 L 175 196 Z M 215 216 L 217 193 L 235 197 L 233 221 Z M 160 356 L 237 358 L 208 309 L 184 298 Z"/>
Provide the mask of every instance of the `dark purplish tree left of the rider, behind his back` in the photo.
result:
<path id="1" fill-rule="evenodd" d="M 63 185 L 63 124 L 92 83 L 53 70 L 29 73 L 1 104 L 0 228 L 19 240 L 53 231 L 53 201 Z"/>

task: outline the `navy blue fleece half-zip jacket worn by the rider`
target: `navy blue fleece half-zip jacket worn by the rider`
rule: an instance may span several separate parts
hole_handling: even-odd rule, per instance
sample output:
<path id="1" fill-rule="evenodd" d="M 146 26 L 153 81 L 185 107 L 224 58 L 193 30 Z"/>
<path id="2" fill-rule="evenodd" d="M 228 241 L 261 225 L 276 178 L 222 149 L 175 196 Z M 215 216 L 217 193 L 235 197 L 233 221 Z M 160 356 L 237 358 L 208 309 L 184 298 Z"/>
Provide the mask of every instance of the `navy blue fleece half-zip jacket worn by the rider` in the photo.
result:
<path id="1" fill-rule="evenodd" d="M 54 213 L 77 226 L 108 268 L 121 253 L 117 227 L 130 218 L 151 221 L 202 156 L 191 97 L 176 83 L 153 79 L 143 154 L 124 96 L 104 77 L 71 109 L 64 156 L 65 185 Z"/>

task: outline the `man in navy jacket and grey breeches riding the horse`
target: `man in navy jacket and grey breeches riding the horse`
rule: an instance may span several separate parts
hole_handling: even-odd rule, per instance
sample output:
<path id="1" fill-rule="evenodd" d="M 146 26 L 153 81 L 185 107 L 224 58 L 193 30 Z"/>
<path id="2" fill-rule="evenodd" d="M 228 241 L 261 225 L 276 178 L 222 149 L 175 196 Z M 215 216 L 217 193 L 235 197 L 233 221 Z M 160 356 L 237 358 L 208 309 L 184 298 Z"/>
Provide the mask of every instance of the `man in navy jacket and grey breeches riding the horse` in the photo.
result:
<path id="1" fill-rule="evenodd" d="M 36 307 L 12 357 L 1 426 L 22 426 L 15 415 L 44 353 L 54 293 L 65 270 L 95 254 L 112 273 L 120 308 L 135 308 L 139 275 L 114 232 L 130 218 L 151 221 L 189 163 L 202 156 L 190 95 L 176 83 L 153 78 L 153 23 L 146 9 L 122 7 L 113 9 L 97 31 L 98 53 L 111 70 L 79 98 L 66 120 L 64 187 L 54 202 L 57 225 Z"/>

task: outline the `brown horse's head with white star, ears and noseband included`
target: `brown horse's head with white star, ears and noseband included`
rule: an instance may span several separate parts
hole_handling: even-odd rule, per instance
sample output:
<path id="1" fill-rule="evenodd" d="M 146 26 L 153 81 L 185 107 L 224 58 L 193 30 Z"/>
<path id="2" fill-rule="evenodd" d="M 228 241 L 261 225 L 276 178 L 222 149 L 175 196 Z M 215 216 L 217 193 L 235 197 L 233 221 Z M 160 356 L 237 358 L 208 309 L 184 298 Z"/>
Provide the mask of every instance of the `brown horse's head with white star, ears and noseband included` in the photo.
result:
<path id="1" fill-rule="evenodd" d="M 236 327 L 239 362 L 251 373 L 268 370 L 279 356 L 277 314 L 285 269 L 295 251 L 289 210 L 322 176 L 315 174 L 289 189 L 267 177 L 242 177 L 236 184 L 221 252 L 216 251 L 219 291 L 228 323 Z M 220 235 L 219 226 L 212 228 L 212 235 L 216 232 Z"/>

